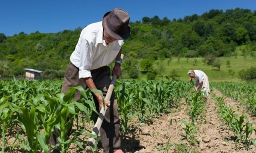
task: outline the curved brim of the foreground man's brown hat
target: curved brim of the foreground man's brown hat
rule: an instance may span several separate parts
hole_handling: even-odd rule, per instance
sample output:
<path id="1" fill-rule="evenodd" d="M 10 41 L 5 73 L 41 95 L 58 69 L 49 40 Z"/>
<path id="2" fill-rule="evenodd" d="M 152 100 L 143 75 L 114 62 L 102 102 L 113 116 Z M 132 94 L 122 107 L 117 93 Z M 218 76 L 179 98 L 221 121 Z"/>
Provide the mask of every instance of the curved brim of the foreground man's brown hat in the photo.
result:
<path id="1" fill-rule="evenodd" d="M 103 16 L 103 20 L 102 20 L 102 24 L 106 30 L 106 32 L 113 38 L 115 38 L 116 40 L 125 40 L 129 37 L 130 33 L 131 33 L 131 28 L 130 26 L 127 27 L 127 29 L 125 30 L 125 34 L 116 34 L 113 31 L 110 30 L 110 28 L 108 27 L 107 21 L 106 21 L 106 17 L 108 16 L 108 14 L 110 14 L 111 11 L 107 12 L 104 14 Z"/>

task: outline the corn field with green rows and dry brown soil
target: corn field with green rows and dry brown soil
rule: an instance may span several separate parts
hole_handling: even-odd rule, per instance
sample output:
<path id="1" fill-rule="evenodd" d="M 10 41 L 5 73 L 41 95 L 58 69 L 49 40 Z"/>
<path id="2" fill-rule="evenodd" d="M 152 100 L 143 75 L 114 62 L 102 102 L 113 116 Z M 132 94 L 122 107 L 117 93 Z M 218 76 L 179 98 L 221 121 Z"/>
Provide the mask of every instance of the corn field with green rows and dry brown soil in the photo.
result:
<path id="1" fill-rule="evenodd" d="M 61 80 L 0 80 L 1 153 L 51 153 L 49 148 L 58 146 L 61 146 L 61 153 L 84 152 L 88 136 L 92 136 L 90 125 L 95 123 L 91 119 L 97 117 L 92 97 L 92 92 L 96 91 L 79 86 L 64 95 L 60 93 L 61 84 Z M 129 139 L 121 140 L 122 148 L 132 146 L 127 153 L 172 153 L 173 150 L 197 153 L 209 149 L 221 152 L 219 150 L 233 146 L 228 153 L 255 152 L 256 84 L 216 82 L 211 85 L 236 102 L 228 105 L 230 99 L 227 102 L 216 89 L 206 101 L 203 91 L 193 91 L 187 81 L 118 80 L 114 92 L 120 132 L 123 138 Z M 82 95 L 78 102 L 73 100 L 76 89 Z M 240 112 L 236 109 L 238 104 Z M 61 133 L 56 135 L 58 144 L 55 146 L 49 144 L 54 127 Z M 208 129 L 216 133 L 209 134 Z M 68 131 L 71 131 L 70 137 Z M 227 134 L 221 136 L 220 133 Z M 206 136 L 217 140 L 206 142 Z M 231 136 L 237 139 L 227 139 Z M 93 137 L 98 143 L 100 138 Z M 159 139 L 162 144 L 155 145 Z M 218 148 L 224 140 L 223 148 Z M 206 143 L 214 147 L 202 148 Z M 140 152 L 140 145 L 145 146 L 146 151 Z M 100 145 L 91 148 L 91 152 L 103 153 Z"/>

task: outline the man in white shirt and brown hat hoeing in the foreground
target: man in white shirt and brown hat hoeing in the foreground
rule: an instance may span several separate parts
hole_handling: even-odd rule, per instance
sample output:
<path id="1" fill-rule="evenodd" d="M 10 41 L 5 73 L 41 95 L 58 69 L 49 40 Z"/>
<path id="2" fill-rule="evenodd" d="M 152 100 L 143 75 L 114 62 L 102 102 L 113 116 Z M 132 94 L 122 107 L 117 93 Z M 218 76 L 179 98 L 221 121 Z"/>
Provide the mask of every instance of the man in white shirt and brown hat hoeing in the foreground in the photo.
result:
<path id="1" fill-rule="evenodd" d="M 106 96 L 111 83 L 110 68 L 107 65 L 113 59 L 116 59 L 116 62 L 112 73 L 116 74 L 117 78 L 122 74 L 121 48 L 123 40 L 130 35 L 129 20 L 126 11 L 115 8 L 103 16 L 102 22 L 92 23 L 81 31 L 76 48 L 70 56 L 61 92 L 67 93 L 70 87 L 81 85 L 84 89 L 99 89 Z M 80 99 L 80 95 L 79 91 L 76 91 L 76 101 Z M 100 94 L 94 94 L 93 98 L 99 111 L 103 105 L 102 97 Z M 120 150 L 119 114 L 114 94 L 110 102 L 105 101 L 105 105 L 110 109 L 106 111 L 100 128 L 103 149 L 105 153 L 123 153 Z M 52 135 L 50 144 L 56 143 L 56 136 Z"/>

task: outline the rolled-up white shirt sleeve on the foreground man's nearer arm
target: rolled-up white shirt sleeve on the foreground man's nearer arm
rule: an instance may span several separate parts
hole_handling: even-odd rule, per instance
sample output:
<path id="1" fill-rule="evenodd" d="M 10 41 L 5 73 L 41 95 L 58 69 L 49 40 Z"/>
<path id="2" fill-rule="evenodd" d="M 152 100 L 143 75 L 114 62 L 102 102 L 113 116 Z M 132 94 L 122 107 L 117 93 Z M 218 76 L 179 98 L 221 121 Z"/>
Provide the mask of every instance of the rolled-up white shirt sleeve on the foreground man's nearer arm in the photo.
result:
<path id="1" fill-rule="evenodd" d="M 93 49 L 85 39 L 81 39 L 80 45 L 79 79 L 92 77 L 90 69 L 93 63 Z"/>

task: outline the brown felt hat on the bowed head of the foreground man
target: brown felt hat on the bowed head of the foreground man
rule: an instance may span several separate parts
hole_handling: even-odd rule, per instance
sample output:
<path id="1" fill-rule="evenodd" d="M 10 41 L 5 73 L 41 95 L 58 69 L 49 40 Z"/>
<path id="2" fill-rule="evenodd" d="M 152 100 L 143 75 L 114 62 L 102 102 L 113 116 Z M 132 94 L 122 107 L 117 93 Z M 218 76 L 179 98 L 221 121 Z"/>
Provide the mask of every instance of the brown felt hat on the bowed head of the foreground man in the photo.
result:
<path id="1" fill-rule="evenodd" d="M 121 8 L 115 8 L 104 14 L 102 24 L 106 32 L 116 40 L 125 40 L 129 37 L 129 14 Z"/>

